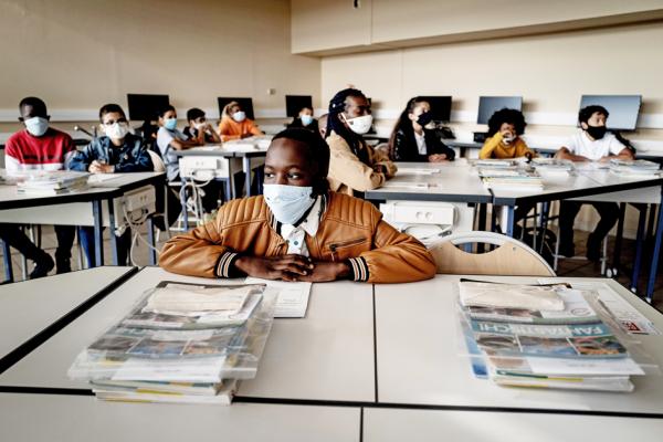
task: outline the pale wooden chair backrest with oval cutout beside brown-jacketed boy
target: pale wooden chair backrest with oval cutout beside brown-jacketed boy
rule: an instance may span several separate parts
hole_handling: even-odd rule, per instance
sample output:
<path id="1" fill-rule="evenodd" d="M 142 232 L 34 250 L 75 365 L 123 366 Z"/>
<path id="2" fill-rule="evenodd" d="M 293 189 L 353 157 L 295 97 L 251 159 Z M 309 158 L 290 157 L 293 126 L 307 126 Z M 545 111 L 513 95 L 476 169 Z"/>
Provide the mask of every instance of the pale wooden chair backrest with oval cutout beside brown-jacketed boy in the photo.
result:
<path id="1" fill-rule="evenodd" d="M 483 243 L 497 248 L 470 253 L 459 245 Z M 556 276 L 548 263 L 528 245 L 493 232 L 460 232 L 431 246 L 438 273 L 455 275 Z"/>

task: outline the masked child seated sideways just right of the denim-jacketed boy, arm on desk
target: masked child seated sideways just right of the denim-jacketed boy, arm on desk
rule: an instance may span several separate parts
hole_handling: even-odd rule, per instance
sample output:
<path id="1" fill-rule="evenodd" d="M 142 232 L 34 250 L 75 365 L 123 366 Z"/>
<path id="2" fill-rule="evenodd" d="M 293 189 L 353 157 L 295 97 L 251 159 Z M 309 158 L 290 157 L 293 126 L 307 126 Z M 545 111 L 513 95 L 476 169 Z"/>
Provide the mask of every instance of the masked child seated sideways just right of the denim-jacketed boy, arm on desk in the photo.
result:
<path id="1" fill-rule="evenodd" d="M 168 105 L 159 113 L 159 131 L 157 133 L 157 146 L 166 165 L 166 175 L 168 181 L 179 181 L 179 161 L 173 150 L 190 149 L 191 147 L 202 146 L 204 143 L 200 138 L 189 138 L 177 129 L 177 113 L 175 107 Z M 219 183 L 210 181 L 203 187 L 202 207 L 210 213 L 217 209 L 219 198 Z M 172 204 L 169 203 L 168 208 Z M 178 212 L 179 213 L 179 212 Z M 169 213 L 168 219 L 172 217 Z"/>

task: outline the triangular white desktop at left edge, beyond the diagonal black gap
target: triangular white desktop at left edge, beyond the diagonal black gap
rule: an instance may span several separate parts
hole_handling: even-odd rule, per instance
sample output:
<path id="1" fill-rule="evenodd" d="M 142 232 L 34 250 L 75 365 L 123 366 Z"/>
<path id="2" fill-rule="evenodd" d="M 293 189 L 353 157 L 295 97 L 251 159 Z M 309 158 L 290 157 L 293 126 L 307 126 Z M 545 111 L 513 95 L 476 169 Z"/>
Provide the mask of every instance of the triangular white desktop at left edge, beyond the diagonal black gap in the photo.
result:
<path id="1" fill-rule="evenodd" d="M 96 267 L 0 285 L 0 370 L 10 352 L 131 272 Z"/>

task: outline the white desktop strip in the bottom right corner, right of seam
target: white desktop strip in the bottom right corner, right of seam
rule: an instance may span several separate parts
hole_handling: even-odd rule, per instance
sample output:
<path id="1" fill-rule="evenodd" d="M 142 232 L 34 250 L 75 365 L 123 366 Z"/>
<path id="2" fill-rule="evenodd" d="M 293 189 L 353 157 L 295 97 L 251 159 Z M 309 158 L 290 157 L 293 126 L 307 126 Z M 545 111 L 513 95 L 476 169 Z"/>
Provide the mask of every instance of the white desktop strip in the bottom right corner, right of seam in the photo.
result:
<path id="1" fill-rule="evenodd" d="M 654 441 L 661 419 L 457 410 L 364 410 L 366 442 Z"/>

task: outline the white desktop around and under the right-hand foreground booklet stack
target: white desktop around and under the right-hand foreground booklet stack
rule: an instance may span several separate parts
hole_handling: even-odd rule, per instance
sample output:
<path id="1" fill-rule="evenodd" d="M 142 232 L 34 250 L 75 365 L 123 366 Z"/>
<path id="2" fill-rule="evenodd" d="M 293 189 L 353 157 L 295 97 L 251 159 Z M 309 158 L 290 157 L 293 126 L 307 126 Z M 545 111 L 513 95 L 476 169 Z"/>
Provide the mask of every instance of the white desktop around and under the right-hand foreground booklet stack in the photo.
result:
<path id="1" fill-rule="evenodd" d="M 379 402 L 663 414 L 663 377 L 659 376 L 633 377 L 633 393 L 503 388 L 476 379 L 467 358 L 460 356 L 464 344 L 455 312 L 457 280 L 459 276 L 439 275 L 417 284 L 376 286 Z M 653 307 L 612 280 L 597 281 L 609 283 L 663 329 L 663 315 Z M 650 355 L 662 364 L 663 338 L 643 336 L 642 341 Z"/>

